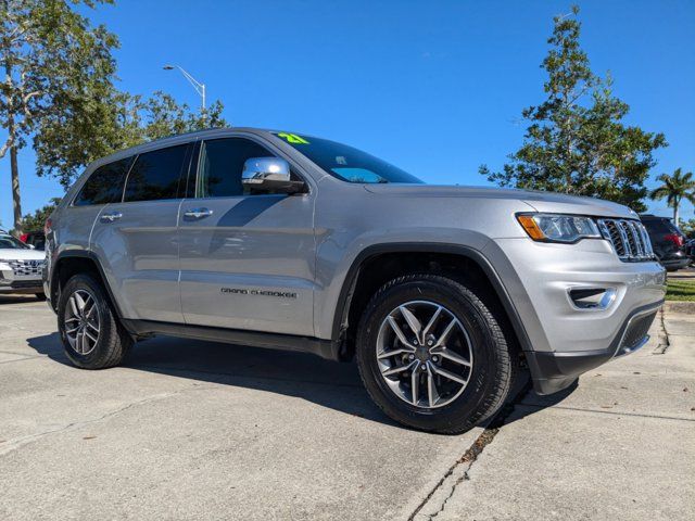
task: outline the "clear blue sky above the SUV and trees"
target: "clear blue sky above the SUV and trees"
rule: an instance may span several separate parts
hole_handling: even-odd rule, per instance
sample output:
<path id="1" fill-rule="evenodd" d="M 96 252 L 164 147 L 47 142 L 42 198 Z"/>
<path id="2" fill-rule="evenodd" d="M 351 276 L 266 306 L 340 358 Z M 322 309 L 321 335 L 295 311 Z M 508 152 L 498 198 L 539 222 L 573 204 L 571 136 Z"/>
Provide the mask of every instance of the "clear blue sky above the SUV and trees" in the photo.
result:
<path id="1" fill-rule="evenodd" d="M 582 46 L 610 71 L 628 123 L 662 131 L 654 178 L 695 170 L 695 2 L 579 1 Z M 486 185 L 521 144 L 522 107 L 543 99 L 558 1 L 121 0 L 91 12 L 121 38 L 122 89 L 198 94 L 176 63 L 207 85 L 233 125 L 314 134 L 365 149 L 428 182 Z M 62 189 L 21 152 L 23 211 Z M 0 221 L 12 225 L 9 157 L 0 162 Z M 650 203 L 671 215 L 666 203 Z M 681 212 L 693 218 L 687 205 Z"/>

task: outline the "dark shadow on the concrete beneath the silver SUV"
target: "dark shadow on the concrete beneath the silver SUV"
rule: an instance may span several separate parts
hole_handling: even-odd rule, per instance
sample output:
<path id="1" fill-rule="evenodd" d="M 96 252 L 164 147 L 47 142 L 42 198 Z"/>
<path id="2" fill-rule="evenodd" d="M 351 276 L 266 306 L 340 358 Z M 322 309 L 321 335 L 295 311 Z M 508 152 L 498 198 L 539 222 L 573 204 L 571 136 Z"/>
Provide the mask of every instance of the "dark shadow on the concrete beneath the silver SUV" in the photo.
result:
<path id="1" fill-rule="evenodd" d="M 28 345 L 59 364 L 71 366 L 58 333 L 30 338 Z M 311 354 L 157 336 L 138 342 L 123 367 L 295 396 L 323 407 L 401 428 L 371 402 L 355 364 L 324 360 Z M 535 407 L 516 407 L 503 421 L 510 423 L 551 407 L 573 389 L 543 397 L 538 397 L 532 391 L 518 393 L 514 404 L 523 404 L 529 397 L 535 396 Z"/>

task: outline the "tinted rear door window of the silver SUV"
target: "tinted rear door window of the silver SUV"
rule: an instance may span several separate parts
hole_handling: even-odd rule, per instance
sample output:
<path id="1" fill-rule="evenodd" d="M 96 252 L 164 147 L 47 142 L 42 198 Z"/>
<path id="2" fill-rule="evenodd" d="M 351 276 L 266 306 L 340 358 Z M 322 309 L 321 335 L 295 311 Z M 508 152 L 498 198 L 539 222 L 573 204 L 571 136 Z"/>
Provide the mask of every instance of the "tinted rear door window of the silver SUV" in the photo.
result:
<path id="1" fill-rule="evenodd" d="M 124 201 L 176 199 L 187 149 L 188 144 L 181 144 L 138 155 L 128 175 Z"/>

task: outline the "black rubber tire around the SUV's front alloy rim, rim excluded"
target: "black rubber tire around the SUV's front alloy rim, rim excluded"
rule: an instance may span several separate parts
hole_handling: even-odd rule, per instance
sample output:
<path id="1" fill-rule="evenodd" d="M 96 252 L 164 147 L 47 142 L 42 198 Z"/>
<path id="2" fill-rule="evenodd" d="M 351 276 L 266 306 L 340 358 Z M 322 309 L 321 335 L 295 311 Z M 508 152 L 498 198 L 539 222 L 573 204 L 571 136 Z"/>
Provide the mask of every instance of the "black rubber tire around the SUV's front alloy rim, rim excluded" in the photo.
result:
<path id="1" fill-rule="evenodd" d="M 442 434 L 468 431 L 492 417 L 509 395 L 518 359 L 510 355 L 511 342 L 486 305 L 486 296 L 472 284 L 435 275 L 408 275 L 384 284 L 371 298 L 359 322 L 356 356 L 359 374 L 374 402 L 392 419 L 405 425 Z M 446 307 L 467 330 L 473 366 L 463 393 L 438 408 L 417 407 L 396 396 L 384 382 L 377 363 L 379 327 L 399 305 L 425 300 Z M 502 318 L 502 317 L 501 317 Z"/>

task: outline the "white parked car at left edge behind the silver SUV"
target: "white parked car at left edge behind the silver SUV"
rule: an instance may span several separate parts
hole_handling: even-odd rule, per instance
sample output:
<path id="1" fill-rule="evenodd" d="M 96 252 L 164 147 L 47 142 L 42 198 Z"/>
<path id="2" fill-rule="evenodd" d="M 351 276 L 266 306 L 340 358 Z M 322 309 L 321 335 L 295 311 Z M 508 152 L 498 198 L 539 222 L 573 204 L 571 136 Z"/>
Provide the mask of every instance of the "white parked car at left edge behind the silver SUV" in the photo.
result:
<path id="1" fill-rule="evenodd" d="M 45 253 L 0 231 L 0 294 L 34 293 L 45 298 L 41 274 Z"/>

